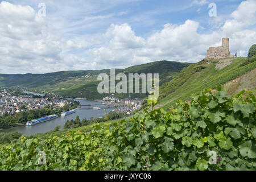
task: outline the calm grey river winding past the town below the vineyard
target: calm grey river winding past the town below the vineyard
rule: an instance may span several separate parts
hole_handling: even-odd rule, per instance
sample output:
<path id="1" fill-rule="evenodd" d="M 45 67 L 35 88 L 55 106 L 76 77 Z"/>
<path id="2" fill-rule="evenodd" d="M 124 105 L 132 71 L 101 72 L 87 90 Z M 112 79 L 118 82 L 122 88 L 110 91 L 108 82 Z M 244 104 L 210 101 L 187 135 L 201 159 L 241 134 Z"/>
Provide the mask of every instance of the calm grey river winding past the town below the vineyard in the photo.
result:
<path id="1" fill-rule="evenodd" d="M 79 101 L 81 105 L 88 105 L 88 104 L 101 104 L 96 101 L 89 101 L 89 100 L 76 100 Z M 61 126 L 61 129 L 63 129 L 63 126 L 65 125 L 65 122 L 69 119 L 76 119 L 76 116 L 78 115 L 80 118 L 80 121 L 82 121 L 83 118 L 89 119 L 90 117 L 98 118 L 98 117 L 104 117 L 105 111 L 103 108 L 106 109 L 106 113 L 109 113 L 110 111 L 114 110 L 114 107 L 108 108 L 108 106 L 97 106 L 101 107 L 101 110 L 94 110 L 94 106 L 90 106 L 90 109 L 88 106 L 81 106 L 81 109 L 77 109 L 76 113 L 66 115 L 65 117 L 60 116 L 56 119 L 52 119 L 50 121 L 42 122 L 34 126 L 17 126 L 10 129 L 1 130 L 1 132 L 11 132 L 11 131 L 18 131 L 22 135 L 34 135 L 37 133 L 46 133 L 47 131 L 53 130 L 56 126 Z"/>

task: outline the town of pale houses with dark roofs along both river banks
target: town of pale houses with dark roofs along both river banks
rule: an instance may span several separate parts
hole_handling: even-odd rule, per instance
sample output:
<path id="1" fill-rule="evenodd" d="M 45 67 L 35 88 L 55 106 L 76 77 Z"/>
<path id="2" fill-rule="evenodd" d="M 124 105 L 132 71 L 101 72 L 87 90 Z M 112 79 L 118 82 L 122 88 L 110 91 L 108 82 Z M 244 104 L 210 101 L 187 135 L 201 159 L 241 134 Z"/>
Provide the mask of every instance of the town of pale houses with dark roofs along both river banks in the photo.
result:
<path id="1" fill-rule="evenodd" d="M 115 104 L 118 107 L 115 111 L 131 114 L 134 110 L 141 108 L 143 99 L 131 98 L 131 95 L 129 95 L 129 97 L 125 99 L 119 99 L 112 96 L 104 97 L 102 100 L 97 101 L 102 102 L 102 104 Z M 20 111 L 43 109 L 44 107 L 56 110 L 58 108 L 63 108 L 65 105 L 73 107 L 75 104 L 77 104 L 77 101 L 71 98 L 63 98 L 56 95 L 34 96 L 32 94 L 24 94 L 20 90 L 7 88 L 0 89 L 0 115 L 3 115 L 4 113 L 15 115 Z"/>

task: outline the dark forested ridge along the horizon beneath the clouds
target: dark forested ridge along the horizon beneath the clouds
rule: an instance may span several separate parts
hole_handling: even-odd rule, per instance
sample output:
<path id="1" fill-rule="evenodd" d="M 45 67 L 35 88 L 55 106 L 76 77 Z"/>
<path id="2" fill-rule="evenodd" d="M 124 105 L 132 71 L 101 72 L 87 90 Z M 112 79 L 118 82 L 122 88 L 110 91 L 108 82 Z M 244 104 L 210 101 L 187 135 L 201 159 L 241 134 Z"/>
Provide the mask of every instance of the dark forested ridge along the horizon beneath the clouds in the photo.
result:
<path id="1" fill-rule="evenodd" d="M 152 63 L 135 65 L 126 69 L 115 69 L 115 73 L 177 73 L 184 67 L 188 67 L 189 63 L 179 63 L 174 61 L 155 61 Z M 46 74 L 0 74 L 0 86 L 23 86 L 27 88 L 35 88 L 46 84 L 53 85 L 61 81 L 69 80 L 70 77 L 81 77 L 85 75 L 98 75 L 100 73 L 110 73 L 110 69 L 87 70 L 87 71 L 61 71 Z"/>

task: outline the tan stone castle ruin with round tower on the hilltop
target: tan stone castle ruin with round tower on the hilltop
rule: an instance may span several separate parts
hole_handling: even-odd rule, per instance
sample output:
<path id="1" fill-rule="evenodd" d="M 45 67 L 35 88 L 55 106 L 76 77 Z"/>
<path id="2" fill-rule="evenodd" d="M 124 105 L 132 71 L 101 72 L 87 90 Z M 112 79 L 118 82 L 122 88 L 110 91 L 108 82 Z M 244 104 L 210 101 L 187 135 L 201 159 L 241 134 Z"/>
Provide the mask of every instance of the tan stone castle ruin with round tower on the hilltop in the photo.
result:
<path id="1" fill-rule="evenodd" d="M 222 46 L 220 47 L 209 47 L 207 50 L 207 59 L 221 59 L 226 57 L 234 57 L 234 55 L 230 55 L 229 52 L 229 38 L 222 38 Z"/>

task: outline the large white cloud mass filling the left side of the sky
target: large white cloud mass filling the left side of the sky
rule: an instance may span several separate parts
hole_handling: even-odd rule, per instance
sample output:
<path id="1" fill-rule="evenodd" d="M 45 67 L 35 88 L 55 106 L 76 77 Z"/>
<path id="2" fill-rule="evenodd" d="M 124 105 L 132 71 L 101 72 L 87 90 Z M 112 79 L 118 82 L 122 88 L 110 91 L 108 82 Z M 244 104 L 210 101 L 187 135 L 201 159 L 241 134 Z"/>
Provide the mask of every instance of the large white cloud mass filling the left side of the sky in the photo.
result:
<path id="1" fill-rule="evenodd" d="M 70 49 L 81 49 L 82 41 L 59 38 L 51 25 L 30 6 L 0 3 L 1 73 L 46 73 L 88 69 L 90 63 Z M 85 44 L 85 43 L 84 43 Z"/>

